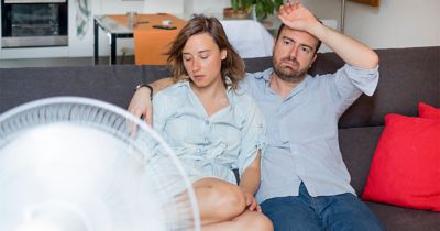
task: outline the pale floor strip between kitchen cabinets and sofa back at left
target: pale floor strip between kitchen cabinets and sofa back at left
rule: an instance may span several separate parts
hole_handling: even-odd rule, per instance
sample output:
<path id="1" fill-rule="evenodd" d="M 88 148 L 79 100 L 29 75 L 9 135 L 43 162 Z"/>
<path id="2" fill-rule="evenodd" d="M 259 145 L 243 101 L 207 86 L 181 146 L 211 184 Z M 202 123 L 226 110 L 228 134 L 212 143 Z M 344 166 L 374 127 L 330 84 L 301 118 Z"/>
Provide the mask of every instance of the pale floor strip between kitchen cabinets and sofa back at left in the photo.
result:
<path id="1" fill-rule="evenodd" d="M 118 57 L 118 64 L 134 64 L 134 57 Z M 0 68 L 18 67 L 54 67 L 54 66 L 91 66 L 92 57 L 65 57 L 65 58 L 19 58 L 0 59 Z M 100 57 L 99 65 L 109 65 L 109 58 Z"/>

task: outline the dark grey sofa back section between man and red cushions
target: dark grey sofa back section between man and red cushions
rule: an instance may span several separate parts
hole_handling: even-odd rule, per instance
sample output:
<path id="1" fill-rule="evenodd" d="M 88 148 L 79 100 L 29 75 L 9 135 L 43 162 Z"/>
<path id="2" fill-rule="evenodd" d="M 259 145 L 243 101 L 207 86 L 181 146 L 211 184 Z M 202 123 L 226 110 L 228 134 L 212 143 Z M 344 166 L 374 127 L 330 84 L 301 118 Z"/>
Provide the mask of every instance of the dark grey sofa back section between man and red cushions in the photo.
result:
<path id="1" fill-rule="evenodd" d="M 342 116 L 340 127 L 383 125 L 388 113 L 416 117 L 419 101 L 440 107 L 440 46 L 376 52 L 377 89 L 372 97 L 361 96 Z"/>

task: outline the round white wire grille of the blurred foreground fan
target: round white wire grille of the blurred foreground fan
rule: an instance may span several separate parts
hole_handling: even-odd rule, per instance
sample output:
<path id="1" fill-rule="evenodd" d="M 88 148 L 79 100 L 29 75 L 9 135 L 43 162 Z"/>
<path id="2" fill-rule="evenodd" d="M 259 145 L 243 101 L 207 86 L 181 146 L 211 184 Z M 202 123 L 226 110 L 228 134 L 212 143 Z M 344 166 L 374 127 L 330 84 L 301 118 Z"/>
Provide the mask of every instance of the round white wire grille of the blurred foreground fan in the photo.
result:
<path id="1" fill-rule="evenodd" d="M 86 130 L 90 134 L 80 135 L 80 132 Z M 24 183 L 31 183 L 30 185 L 36 186 L 36 184 L 42 182 L 41 178 L 35 179 L 35 176 L 38 174 L 31 176 L 30 173 L 23 173 L 23 169 L 28 168 L 31 172 L 37 172 L 41 168 L 41 166 L 40 168 L 36 166 L 42 160 L 41 156 L 47 158 L 47 153 L 42 152 L 43 154 L 38 154 L 38 152 L 35 152 L 35 148 L 26 150 L 23 147 L 25 145 L 21 143 L 19 146 L 21 146 L 20 148 L 24 148 L 24 151 L 19 148 L 20 152 L 11 152 L 11 146 L 16 146 L 18 141 L 21 142 L 24 140 L 28 142 L 33 140 L 34 136 L 29 136 L 29 134 L 35 131 L 40 131 L 40 134 L 44 136 L 36 139 L 40 144 L 42 142 L 40 140 L 53 138 L 55 140 L 59 139 L 58 142 L 61 143 L 67 142 L 66 144 L 63 143 L 65 146 L 72 145 L 70 150 L 74 150 L 72 151 L 74 152 L 72 155 L 68 154 L 69 152 L 54 151 L 56 153 L 55 160 L 57 161 L 55 163 L 57 165 L 45 165 L 45 168 L 55 168 L 58 170 L 57 173 L 61 173 L 61 176 L 70 177 L 70 172 L 66 174 L 64 170 L 68 170 L 73 163 L 80 163 L 79 165 L 82 166 L 78 167 L 78 169 L 81 169 L 85 174 L 91 174 L 92 177 L 97 178 L 96 182 L 91 179 L 87 180 L 105 185 L 103 189 L 100 188 L 97 190 L 99 200 L 102 200 L 106 205 L 101 205 L 101 210 L 98 209 L 97 211 L 102 213 L 102 209 L 109 210 L 106 210 L 107 217 L 94 213 L 94 210 L 90 208 L 84 208 L 85 205 L 78 205 L 77 195 L 70 195 L 68 191 L 66 193 L 65 188 L 55 187 L 51 184 L 46 188 L 43 187 L 42 191 L 36 193 L 40 194 L 38 196 L 43 195 L 43 199 L 41 200 L 35 199 L 35 196 L 32 195 L 33 193 L 18 195 L 13 193 L 15 189 L 26 189 L 28 186 L 23 185 Z M 79 135 L 73 138 L 70 133 Z M 108 143 L 118 144 L 114 144 L 114 148 L 111 148 L 112 145 L 100 143 L 102 139 L 99 140 L 98 138 L 101 135 L 106 136 L 103 140 L 111 141 Z M 76 138 L 80 141 L 79 143 L 77 143 Z M 94 141 L 95 138 L 98 139 L 97 142 Z M 47 145 L 50 146 L 51 144 Z M 102 153 L 99 148 L 103 148 L 106 145 L 109 146 Z M 89 146 L 96 147 L 91 152 L 88 152 L 86 150 Z M 123 153 L 114 154 L 116 151 L 113 152 L 113 150 L 123 150 Z M 107 152 L 110 154 L 107 154 Z M 80 158 L 86 153 L 87 156 Z M 69 161 L 66 161 L 66 158 Z M 78 158 L 80 160 L 78 161 Z M 96 166 L 91 165 L 87 161 L 89 158 L 97 160 L 98 164 Z M 107 158 L 112 161 L 102 161 L 101 163 L 99 161 Z M 28 161 L 23 162 L 23 160 Z M 29 160 L 37 161 L 34 163 Z M 89 168 L 95 169 L 82 169 L 84 165 L 90 165 Z M 59 169 L 59 166 L 65 166 L 65 169 Z M 64 182 L 68 180 L 75 183 L 76 185 L 74 184 L 74 186 L 77 186 L 77 188 L 90 185 L 84 185 L 78 179 L 77 175 L 81 174 L 74 175 L 72 179 L 63 180 L 53 178 L 52 176 L 44 176 L 50 182 L 52 180 L 52 183 L 58 185 L 63 185 Z M 23 184 L 20 183 L 22 178 L 24 179 Z M 88 221 L 85 221 L 85 223 L 89 223 L 86 226 L 88 227 L 87 230 L 158 230 L 154 228 L 154 223 L 161 226 L 162 230 L 199 230 L 199 218 L 194 191 L 170 148 L 143 121 L 120 108 L 98 100 L 73 97 L 43 99 L 1 114 L 0 187 L 2 190 L 4 189 L 3 193 L 0 193 L 0 213 L 9 215 L 7 216 L 8 219 L 0 221 L 0 229 L 16 230 L 14 227 L 15 223 L 23 223 L 23 217 L 18 218 L 16 216 L 23 216 L 23 212 L 30 213 L 31 211 L 31 213 L 36 215 L 42 208 L 47 211 L 58 211 L 61 208 L 59 205 L 68 204 L 68 206 L 63 206 L 62 208 L 72 207 L 76 208 L 75 211 L 81 211 L 82 217 L 88 219 Z M 73 186 L 70 185 L 69 187 Z M 73 187 L 74 190 L 84 191 L 77 188 Z M 68 196 L 57 197 L 54 202 L 47 196 L 47 190 L 63 191 L 63 194 Z M 130 194 L 127 191 L 130 191 Z M 14 197 L 14 200 L 21 200 L 20 205 L 15 206 L 8 201 L 11 199 L 8 196 Z M 128 196 L 131 197 L 129 202 L 127 200 Z M 87 197 L 87 195 L 82 197 Z M 96 199 L 97 195 L 91 196 L 91 198 Z M 82 200 L 79 204 L 81 202 L 84 204 Z M 58 205 L 58 207 L 54 209 L 53 205 Z M 153 211 L 151 210 L 152 208 L 154 208 Z M 142 212 L 145 213 L 140 215 Z M 51 212 L 45 213 L 50 215 Z M 34 219 L 37 217 L 35 215 Z M 140 218 L 143 220 L 140 220 Z M 111 221 L 106 221 L 108 222 L 107 224 L 98 224 L 106 219 Z M 157 222 L 162 223 L 158 224 Z"/>

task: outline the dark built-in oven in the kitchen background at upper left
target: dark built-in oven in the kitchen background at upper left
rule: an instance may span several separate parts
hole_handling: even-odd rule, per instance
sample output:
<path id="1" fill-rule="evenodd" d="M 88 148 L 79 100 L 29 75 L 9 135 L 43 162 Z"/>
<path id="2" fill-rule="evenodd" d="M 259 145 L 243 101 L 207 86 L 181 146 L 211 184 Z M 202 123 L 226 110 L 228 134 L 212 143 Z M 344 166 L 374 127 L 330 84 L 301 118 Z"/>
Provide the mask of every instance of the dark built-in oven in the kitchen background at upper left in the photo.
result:
<path id="1" fill-rule="evenodd" d="M 67 0 L 1 0 L 1 46 L 67 46 Z"/>

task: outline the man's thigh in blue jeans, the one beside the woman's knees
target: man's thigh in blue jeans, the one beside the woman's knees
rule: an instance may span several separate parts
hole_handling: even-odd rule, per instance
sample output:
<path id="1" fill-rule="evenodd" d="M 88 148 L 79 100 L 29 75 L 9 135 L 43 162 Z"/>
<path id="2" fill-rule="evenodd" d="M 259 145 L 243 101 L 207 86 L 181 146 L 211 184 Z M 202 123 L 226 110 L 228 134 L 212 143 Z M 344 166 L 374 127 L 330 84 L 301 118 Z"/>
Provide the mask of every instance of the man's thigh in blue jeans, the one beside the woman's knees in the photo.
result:
<path id="1" fill-rule="evenodd" d="M 263 212 L 272 220 L 275 231 L 320 231 L 321 223 L 307 199 L 277 197 L 265 200 Z"/>

